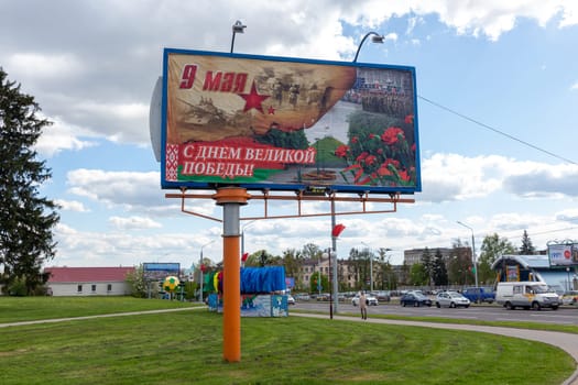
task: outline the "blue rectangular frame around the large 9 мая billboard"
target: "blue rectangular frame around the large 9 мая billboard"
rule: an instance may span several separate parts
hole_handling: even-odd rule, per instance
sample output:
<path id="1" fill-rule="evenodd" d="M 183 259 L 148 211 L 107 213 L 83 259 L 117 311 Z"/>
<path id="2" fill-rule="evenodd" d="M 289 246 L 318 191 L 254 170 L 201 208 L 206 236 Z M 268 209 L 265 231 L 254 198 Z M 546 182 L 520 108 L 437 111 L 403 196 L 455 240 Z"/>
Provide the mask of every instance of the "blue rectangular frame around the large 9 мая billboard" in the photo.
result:
<path id="1" fill-rule="evenodd" d="M 264 61 L 271 63 L 282 64 L 296 64 L 296 65 L 321 65 L 332 66 L 336 68 L 355 68 L 359 70 L 385 70 L 385 72 L 401 72 L 406 74 L 411 79 L 411 106 L 412 106 L 412 125 L 413 125 L 413 141 L 412 148 L 414 151 L 413 165 L 415 173 L 415 184 L 410 186 L 394 185 L 394 186 L 375 186 L 375 185 L 358 185 L 358 184 L 325 184 L 319 182 L 310 183 L 243 183 L 237 180 L 222 182 L 197 182 L 197 180 L 174 180 L 167 179 L 167 109 L 168 109 L 168 72 L 170 72 L 170 56 L 171 55 L 195 55 L 195 56 L 208 56 L 210 58 L 220 59 L 242 59 L 242 61 Z M 417 92 L 415 86 L 415 68 L 411 66 L 399 66 L 399 65 L 382 65 L 382 64 L 368 64 L 368 63 L 350 63 L 350 62 L 331 62 L 331 61 L 318 61 L 307 58 L 294 58 L 294 57 L 279 57 L 279 56 L 260 56 L 260 55 L 247 55 L 247 54 L 228 54 L 208 51 L 190 51 L 190 50 L 176 50 L 165 48 L 163 55 L 163 81 L 162 81 L 162 111 L 161 111 L 161 187 L 163 189 L 194 189 L 194 190 L 207 190 L 218 189 L 220 187 L 240 187 L 248 190 L 277 190 L 277 191 L 315 191 L 315 190 L 327 190 L 332 193 L 351 193 L 351 194 L 406 194 L 413 195 L 416 191 L 422 190 L 421 180 L 421 160 L 419 160 L 419 140 L 418 140 L 418 119 L 417 119 Z M 357 81 L 357 79 L 356 79 Z M 200 143 L 205 143 L 200 141 Z M 310 148 L 309 148 L 310 150 Z M 316 160 L 317 162 L 317 160 Z M 318 168 L 318 166 L 317 166 Z"/>

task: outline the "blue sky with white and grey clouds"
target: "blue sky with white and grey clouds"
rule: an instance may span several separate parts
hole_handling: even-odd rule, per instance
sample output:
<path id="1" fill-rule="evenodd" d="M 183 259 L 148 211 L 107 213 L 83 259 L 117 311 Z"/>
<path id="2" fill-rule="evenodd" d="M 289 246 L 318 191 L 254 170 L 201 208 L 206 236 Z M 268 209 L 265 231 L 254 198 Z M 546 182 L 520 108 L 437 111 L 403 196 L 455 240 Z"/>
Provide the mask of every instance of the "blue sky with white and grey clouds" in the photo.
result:
<path id="1" fill-rule="evenodd" d="M 61 206 L 50 266 L 222 260 L 220 222 L 161 189 L 149 127 L 163 48 L 413 66 L 422 191 L 395 212 L 338 216 L 351 248 L 515 248 L 578 239 L 578 2 L 575 0 L 0 0 L 0 66 L 53 122 L 37 143 Z M 375 206 L 389 209 L 389 206 Z M 216 219 L 212 200 L 187 208 Z M 359 207 L 337 206 L 337 210 Z M 280 202 L 271 211 L 296 213 Z M 327 212 L 314 204 L 308 212 Z M 242 207 L 259 216 L 262 202 Z M 461 222 L 466 226 L 462 226 Z M 242 222 L 244 251 L 331 245 L 330 218 Z"/>

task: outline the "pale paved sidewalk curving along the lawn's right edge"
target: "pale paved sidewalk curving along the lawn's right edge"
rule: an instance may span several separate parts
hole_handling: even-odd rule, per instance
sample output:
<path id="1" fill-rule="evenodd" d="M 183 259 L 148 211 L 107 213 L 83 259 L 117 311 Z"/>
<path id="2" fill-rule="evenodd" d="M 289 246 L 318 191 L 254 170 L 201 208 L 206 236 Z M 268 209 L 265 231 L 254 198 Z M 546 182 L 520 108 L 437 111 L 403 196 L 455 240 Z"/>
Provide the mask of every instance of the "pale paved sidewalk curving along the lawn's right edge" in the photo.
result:
<path id="1" fill-rule="evenodd" d="M 327 315 L 315 315 L 315 314 L 303 314 L 303 312 L 292 312 L 291 316 L 328 319 Z M 484 333 L 493 333 L 493 334 L 500 334 L 500 336 L 521 338 L 524 340 L 544 342 L 544 343 L 560 348 L 561 350 L 564 350 L 565 352 L 567 352 L 574 358 L 574 361 L 577 364 L 577 369 L 572 373 L 572 375 L 563 383 L 563 385 L 578 385 L 578 334 L 563 333 L 558 331 L 484 327 L 484 326 L 477 326 L 477 324 L 402 321 L 402 320 L 381 319 L 381 318 L 368 318 L 367 320 L 362 320 L 359 317 L 343 317 L 343 316 L 334 316 L 334 320 L 404 324 L 404 326 L 425 327 L 425 328 L 435 328 L 435 329 L 480 331 Z"/>

